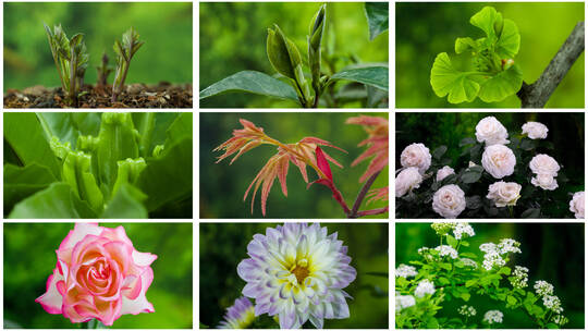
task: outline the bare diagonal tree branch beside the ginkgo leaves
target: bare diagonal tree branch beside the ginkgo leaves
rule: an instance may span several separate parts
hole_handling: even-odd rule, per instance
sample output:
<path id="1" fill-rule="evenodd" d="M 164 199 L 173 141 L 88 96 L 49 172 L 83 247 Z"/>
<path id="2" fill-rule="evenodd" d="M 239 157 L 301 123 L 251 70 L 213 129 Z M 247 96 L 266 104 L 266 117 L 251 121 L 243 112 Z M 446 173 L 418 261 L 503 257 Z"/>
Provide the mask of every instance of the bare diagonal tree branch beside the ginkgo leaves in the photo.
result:
<path id="1" fill-rule="evenodd" d="M 522 108 L 543 108 L 558 85 L 584 51 L 584 22 L 574 27 L 541 76 L 531 85 L 523 82 L 517 93 Z"/>

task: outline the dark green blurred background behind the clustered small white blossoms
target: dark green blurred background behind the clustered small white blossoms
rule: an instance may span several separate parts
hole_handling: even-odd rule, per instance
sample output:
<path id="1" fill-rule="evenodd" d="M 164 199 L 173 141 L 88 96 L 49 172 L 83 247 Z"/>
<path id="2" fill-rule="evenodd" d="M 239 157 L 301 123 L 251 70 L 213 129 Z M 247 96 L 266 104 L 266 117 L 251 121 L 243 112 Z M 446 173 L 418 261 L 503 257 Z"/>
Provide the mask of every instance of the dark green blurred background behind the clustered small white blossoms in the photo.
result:
<path id="1" fill-rule="evenodd" d="M 584 224 L 579 223 L 476 223 L 471 224 L 476 235 L 468 238 L 471 252 L 480 255 L 478 247 L 488 242 L 497 243 L 511 237 L 520 242 L 522 254 L 513 254 L 507 266 L 523 266 L 529 269 L 529 287 L 538 280 L 544 280 L 555 286 L 554 294 L 562 301 L 563 315 L 569 318 L 565 328 L 584 329 Z M 417 249 L 434 247 L 439 237 L 430 223 L 396 223 L 396 266 L 418 259 Z M 438 316 L 455 317 L 463 301 L 445 302 Z M 505 309 L 488 297 L 474 295 L 468 305 L 473 305 L 478 315 L 477 321 L 490 309 L 504 312 L 504 322 L 498 328 L 535 328 L 523 310 Z"/>

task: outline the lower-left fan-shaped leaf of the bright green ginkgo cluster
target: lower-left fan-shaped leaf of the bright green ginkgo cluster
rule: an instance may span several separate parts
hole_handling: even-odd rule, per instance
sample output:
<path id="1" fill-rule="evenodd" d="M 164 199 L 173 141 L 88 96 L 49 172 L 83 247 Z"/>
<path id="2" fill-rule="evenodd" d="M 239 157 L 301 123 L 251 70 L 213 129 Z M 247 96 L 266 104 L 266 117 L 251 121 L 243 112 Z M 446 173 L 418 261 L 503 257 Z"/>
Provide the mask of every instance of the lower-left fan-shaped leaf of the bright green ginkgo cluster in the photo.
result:
<path id="1" fill-rule="evenodd" d="M 480 85 L 466 73 L 451 64 L 448 53 L 437 56 L 431 69 L 431 86 L 438 97 L 448 96 L 451 103 L 471 102 L 480 90 Z"/>

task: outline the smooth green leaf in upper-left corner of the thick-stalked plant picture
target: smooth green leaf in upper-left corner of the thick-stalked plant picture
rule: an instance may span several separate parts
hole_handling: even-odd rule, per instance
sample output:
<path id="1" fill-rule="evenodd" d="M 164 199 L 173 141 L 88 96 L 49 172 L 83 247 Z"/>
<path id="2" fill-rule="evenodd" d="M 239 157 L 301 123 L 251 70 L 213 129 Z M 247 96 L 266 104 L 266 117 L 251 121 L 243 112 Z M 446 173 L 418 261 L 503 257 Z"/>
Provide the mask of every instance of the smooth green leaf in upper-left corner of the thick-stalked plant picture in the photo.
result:
<path id="1" fill-rule="evenodd" d="M 56 177 L 61 177 L 59 162 L 34 113 L 4 113 L 4 139 L 22 166 L 37 163 L 49 169 Z"/>

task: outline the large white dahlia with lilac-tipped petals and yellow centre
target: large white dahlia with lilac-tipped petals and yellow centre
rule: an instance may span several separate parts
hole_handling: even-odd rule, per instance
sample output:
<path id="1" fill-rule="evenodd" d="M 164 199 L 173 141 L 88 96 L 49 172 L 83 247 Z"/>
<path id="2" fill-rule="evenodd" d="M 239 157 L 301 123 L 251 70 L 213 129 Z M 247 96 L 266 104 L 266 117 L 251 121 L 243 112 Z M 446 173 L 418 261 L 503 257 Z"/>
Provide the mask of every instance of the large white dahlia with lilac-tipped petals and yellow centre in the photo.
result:
<path id="1" fill-rule="evenodd" d="M 255 315 L 278 316 L 280 328 L 299 329 L 307 321 L 322 329 L 323 319 L 350 317 L 345 289 L 357 272 L 347 247 L 315 223 L 286 223 L 255 234 L 249 258 L 237 266 L 247 282 L 243 295 L 255 299 Z"/>

